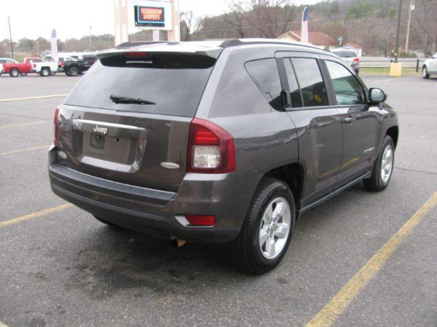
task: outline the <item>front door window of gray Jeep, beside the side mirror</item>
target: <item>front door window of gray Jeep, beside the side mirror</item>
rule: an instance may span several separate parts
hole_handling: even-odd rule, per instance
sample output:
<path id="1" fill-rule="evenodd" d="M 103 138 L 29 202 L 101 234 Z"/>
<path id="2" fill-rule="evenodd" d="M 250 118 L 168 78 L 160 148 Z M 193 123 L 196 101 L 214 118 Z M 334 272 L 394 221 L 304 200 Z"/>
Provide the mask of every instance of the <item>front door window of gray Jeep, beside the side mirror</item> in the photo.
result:
<path id="1" fill-rule="evenodd" d="M 339 105 L 359 105 L 365 102 L 364 89 L 349 70 L 334 61 L 326 60 L 326 67 Z"/>

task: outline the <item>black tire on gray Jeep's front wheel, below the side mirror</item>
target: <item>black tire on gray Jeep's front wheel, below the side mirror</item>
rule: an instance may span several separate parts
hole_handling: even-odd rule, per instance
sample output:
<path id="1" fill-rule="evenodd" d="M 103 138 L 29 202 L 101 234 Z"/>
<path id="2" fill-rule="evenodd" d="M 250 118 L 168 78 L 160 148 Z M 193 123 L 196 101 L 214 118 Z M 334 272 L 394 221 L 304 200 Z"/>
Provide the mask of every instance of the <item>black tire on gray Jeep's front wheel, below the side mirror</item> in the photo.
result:
<path id="1" fill-rule="evenodd" d="M 392 149 L 392 164 L 390 169 L 390 174 L 387 181 L 383 180 L 382 176 L 382 161 L 383 161 L 383 155 L 385 153 L 385 150 L 387 147 L 390 146 Z M 373 165 L 373 170 L 371 177 L 363 180 L 364 186 L 368 189 L 368 191 L 372 192 L 380 192 L 385 189 L 385 187 L 388 186 L 388 183 L 390 183 L 390 180 L 392 178 L 393 173 L 393 167 L 395 165 L 395 143 L 393 142 L 392 138 L 388 135 L 384 137 L 384 140 L 382 142 L 381 151 L 378 154 L 378 157 L 376 158 L 375 164 Z"/>

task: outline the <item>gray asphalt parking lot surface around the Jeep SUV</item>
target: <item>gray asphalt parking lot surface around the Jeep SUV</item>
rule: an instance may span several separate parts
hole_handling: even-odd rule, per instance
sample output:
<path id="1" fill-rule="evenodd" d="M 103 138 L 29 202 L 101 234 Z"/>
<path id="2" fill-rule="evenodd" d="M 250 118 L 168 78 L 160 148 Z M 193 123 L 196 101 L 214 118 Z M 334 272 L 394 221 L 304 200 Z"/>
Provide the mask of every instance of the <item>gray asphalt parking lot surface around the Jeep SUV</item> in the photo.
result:
<path id="1" fill-rule="evenodd" d="M 63 206 L 47 150 L 78 79 L 0 77 L 0 326 L 437 326 L 437 78 L 363 77 L 399 113 L 391 184 L 304 215 L 263 276 L 233 268 L 223 245 L 174 249 Z"/>

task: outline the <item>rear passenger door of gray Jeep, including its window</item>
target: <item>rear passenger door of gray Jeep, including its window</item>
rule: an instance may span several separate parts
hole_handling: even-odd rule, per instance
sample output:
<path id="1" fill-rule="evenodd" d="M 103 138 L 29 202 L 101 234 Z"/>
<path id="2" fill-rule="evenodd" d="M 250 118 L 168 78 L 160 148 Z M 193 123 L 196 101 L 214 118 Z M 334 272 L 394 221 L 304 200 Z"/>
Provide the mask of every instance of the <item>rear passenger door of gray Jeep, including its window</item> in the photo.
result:
<path id="1" fill-rule="evenodd" d="M 304 167 L 302 206 L 333 191 L 341 162 L 341 120 L 321 72 L 318 54 L 287 53 L 282 57 L 288 76 L 291 108 Z"/>

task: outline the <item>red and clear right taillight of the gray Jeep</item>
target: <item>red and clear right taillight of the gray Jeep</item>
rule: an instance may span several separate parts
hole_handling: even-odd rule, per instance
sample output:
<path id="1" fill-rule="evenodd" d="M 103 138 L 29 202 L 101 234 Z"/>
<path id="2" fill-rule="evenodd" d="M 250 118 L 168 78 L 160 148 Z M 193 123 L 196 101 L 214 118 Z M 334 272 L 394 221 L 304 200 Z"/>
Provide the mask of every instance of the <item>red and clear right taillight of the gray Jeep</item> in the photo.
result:
<path id="1" fill-rule="evenodd" d="M 214 123 L 194 118 L 188 141 L 187 171 L 230 173 L 235 171 L 234 138 Z"/>

